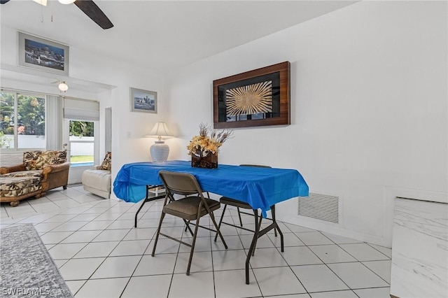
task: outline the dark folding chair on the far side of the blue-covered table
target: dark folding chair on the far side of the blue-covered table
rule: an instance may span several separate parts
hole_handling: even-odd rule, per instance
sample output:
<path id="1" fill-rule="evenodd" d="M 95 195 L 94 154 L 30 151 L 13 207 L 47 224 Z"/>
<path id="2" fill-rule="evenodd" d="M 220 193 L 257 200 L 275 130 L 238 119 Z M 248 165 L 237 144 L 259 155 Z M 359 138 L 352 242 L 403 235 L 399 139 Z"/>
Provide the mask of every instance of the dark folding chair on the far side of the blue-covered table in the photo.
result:
<path id="1" fill-rule="evenodd" d="M 257 167 L 257 168 L 271 168 L 271 166 L 262 166 L 259 164 L 240 164 L 239 166 L 253 166 L 253 167 Z M 255 237 L 253 237 L 253 241 L 254 241 L 254 247 L 252 250 L 252 255 L 255 254 L 255 245 L 256 245 L 256 241 L 258 239 L 258 232 L 260 231 L 260 227 L 261 227 L 261 222 L 262 222 L 262 216 L 258 215 L 258 209 L 253 209 L 251 205 L 247 204 L 244 201 L 239 201 L 237 199 L 232 199 L 230 197 L 221 197 L 219 199 L 221 204 L 224 204 L 224 208 L 223 208 L 223 213 L 221 214 L 221 219 L 219 220 L 219 224 L 218 224 L 218 228 L 221 228 L 222 224 L 225 225 L 230 225 L 232 227 L 237 227 L 239 229 L 244 229 L 248 232 L 253 232 L 255 233 Z M 238 213 L 238 218 L 239 218 L 239 226 L 235 225 L 231 222 L 225 222 L 224 221 L 224 214 L 225 214 L 225 210 L 227 208 L 227 206 L 234 206 L 237 208 L 237 213 Z M 241 211 L 241 209 L 247 209 L 247 210 L 252 210 L 253 214 L 251 213 L 247 213 L 244 211 Z M 247 214 L 247 215 L 252 215 L 255 219 L 255 228 L 254 229 L 248 229 L 246 227 L 243 227 L 243 221 L 241 220 L 241 213 Z M 275 220 L 275 205 L 271 206 L 271 214 L 272 214 L 272 221 L 274 222 L 274 224 L 276 225 L 276 228 L 274 229 L 274 235 L 277 236 L 277 229 L 279 230 L 279 233 L 281 234 L 280 228 L 279 226 L 276 224 L 276 220 Z M 215 235 L 215 241 L 218 238 L 218 234 Z M 281 235 L 281 249 L 283 251 L 283 235 Z"/>

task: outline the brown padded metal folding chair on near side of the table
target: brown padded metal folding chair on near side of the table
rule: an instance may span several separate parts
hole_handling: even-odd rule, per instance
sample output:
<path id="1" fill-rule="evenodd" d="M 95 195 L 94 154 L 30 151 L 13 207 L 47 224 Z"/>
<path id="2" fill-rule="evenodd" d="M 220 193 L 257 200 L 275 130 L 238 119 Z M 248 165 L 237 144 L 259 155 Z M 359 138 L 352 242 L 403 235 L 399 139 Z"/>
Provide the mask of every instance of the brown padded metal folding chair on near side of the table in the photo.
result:
<path id="1" fill-rule="evenodd" d="M 225 243 L 225 240 L 223 238 L 223 235 L 219 231 L 219 227 L 216 224 L 216 220 L 213 213 L 216 209 L 221 207 L 221 203 L 214 199 L 204 197 L 203 191 L 199 183 L 197 183 L 195 176 L 193 176 L 190 173 L 160 171 L 159 176 L 160 179 L 162 180 L 163 185 L 165 185 L 166 196 L 162 208 L 162 215 L 160 215 L 159 226 L 155 236 L 153 253 L 151 255 L 153 257 L 155 255 L 155 248 L 157 246 L 159 235 L 165 236 L 168 239 L 172 239 L 176 242 L 189 246 L 191 250 L 186 274 L 190 275 L 191 261 L 193 260 L 193 252 L 195 250 L 197 230 L 199 227 L 202 227 L 203 229 L 208 229 L 209 231 L 212 232 L 216 232 L 216 234 L 220 236 L 221 241 L 223 241 L 225 249 L 228 248 L 227 243 Z M 176 194 L 178 195 L 177 199 L 175 197 Z M 179 197 L 179 195 L 181 197 Z M 190 229 L 189 227 L 190 225 L 193 225 L 191 221 L 194 220 L 196 221 L 195 231 L 193 232 L 193 241 L 191 244 L 160 232 L 162 222 L 166 214 L 182 218 L 188 229 Z M 210 227 L 200 225 L 200 218 L 202 218 L 204 215 L 207 214 L 209 214 L 215 229 L 211 229 Z"/>

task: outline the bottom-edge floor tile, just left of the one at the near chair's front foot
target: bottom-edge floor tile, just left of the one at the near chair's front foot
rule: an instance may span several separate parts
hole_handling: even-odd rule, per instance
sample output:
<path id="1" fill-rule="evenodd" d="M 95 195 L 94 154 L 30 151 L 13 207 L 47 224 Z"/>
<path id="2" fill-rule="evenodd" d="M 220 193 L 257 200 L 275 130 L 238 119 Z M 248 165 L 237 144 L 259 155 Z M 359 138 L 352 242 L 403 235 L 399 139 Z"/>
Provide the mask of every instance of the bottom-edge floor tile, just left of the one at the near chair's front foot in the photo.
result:
<path id="1" fill-rule="evenodd" d="M 171 274 L 134 276 L 130 279 L 122 298 L 167 297 Z"/>

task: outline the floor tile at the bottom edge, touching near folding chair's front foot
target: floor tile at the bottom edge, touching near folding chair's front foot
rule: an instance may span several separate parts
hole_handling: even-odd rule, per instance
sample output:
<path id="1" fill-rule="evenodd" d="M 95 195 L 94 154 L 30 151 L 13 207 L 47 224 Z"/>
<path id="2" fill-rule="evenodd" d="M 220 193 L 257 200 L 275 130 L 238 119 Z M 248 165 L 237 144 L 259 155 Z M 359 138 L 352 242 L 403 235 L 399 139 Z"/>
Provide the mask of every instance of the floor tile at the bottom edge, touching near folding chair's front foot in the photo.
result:
<path id="1" fill-rule="evenodd" d="M 174 274 L 169 298 L 209 298 L 214 297 L 213 272 L 196 272 L 195 274 Z"/>

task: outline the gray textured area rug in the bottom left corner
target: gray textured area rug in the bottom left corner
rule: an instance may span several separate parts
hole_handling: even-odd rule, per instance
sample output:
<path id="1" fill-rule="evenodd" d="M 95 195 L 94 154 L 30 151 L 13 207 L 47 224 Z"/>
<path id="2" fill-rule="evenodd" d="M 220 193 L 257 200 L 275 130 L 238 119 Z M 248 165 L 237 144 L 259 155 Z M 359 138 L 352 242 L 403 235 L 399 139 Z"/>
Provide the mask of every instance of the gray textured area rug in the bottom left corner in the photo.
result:
<path id="1" fill-rule="evenodd" d="M 0 297 L 73 297 L 33 225 L 0 232 Z"/>

